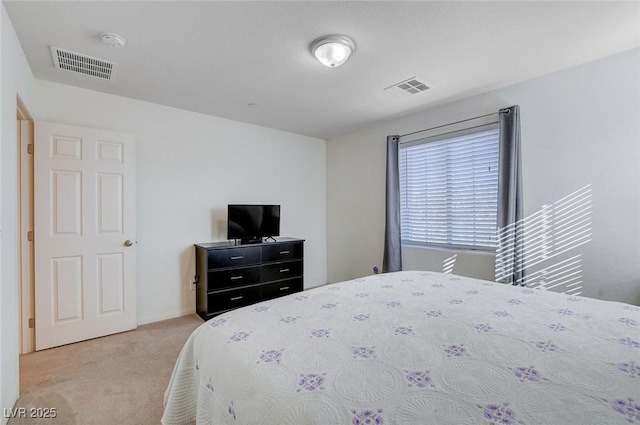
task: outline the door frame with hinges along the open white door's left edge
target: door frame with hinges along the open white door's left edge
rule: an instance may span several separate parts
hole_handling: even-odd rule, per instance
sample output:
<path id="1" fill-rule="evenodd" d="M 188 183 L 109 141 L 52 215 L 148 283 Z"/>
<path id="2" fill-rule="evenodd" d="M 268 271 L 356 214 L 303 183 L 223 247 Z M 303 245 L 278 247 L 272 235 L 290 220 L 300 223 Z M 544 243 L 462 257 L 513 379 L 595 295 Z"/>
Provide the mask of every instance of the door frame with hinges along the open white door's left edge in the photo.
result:
<path id="1" fill-rule="evenodd" d="M 20 294 L 20 354 L 35 351 L 35 281 L 33 236 L 33 117 L 16 98 L 18 144 L 18 293 Z M 31 151 L 33 152 L 33 151 Z"/>

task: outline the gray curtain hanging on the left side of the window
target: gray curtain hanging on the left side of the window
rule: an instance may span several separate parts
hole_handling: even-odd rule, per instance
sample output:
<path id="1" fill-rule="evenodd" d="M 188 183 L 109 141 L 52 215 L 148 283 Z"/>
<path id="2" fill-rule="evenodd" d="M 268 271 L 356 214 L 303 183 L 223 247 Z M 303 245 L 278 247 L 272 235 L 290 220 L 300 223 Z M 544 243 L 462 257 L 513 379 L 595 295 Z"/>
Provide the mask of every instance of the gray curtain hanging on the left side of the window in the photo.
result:
<path id="1" fill-rule="evenodd" d="M 384 230 L 382 272 L 402 270 L 400 237 L 400 174 L 398 172 L 398 136 L 387 137 L 387 205 Z"/>

